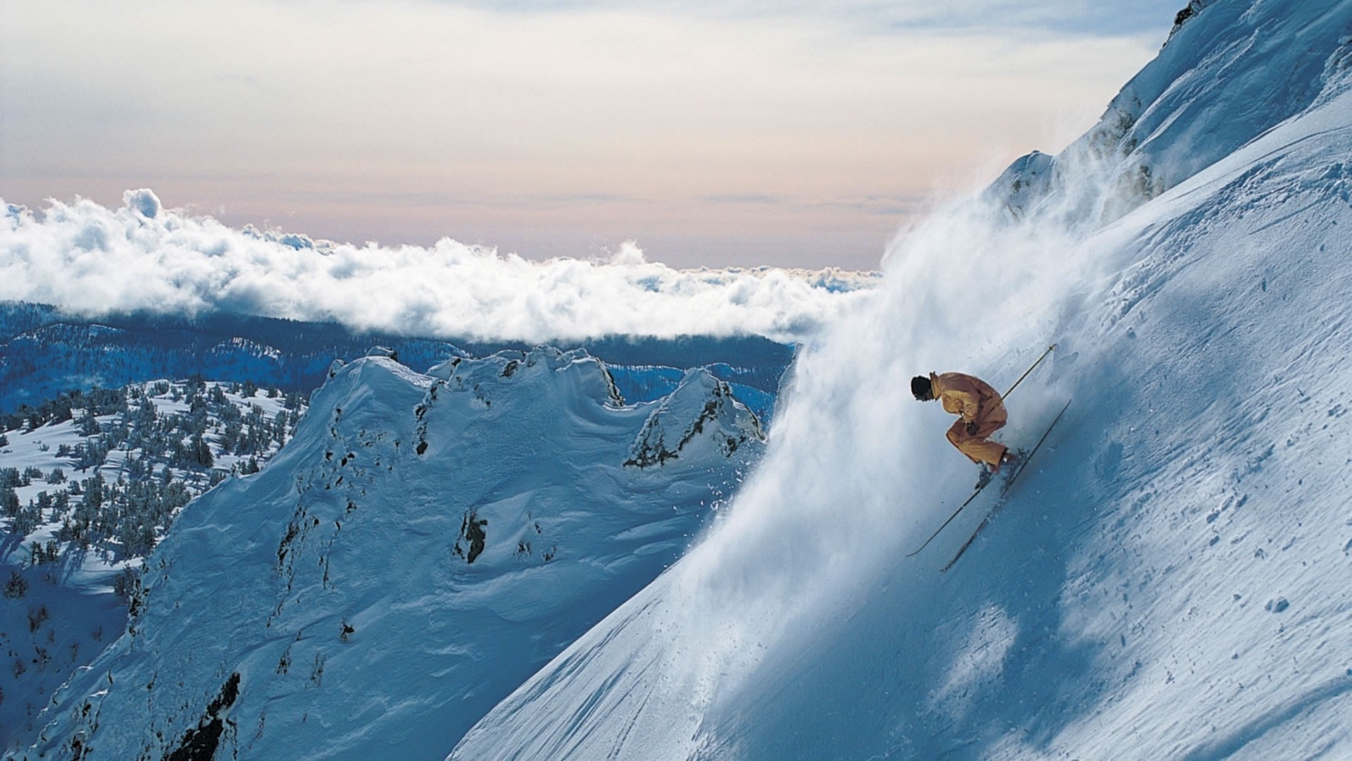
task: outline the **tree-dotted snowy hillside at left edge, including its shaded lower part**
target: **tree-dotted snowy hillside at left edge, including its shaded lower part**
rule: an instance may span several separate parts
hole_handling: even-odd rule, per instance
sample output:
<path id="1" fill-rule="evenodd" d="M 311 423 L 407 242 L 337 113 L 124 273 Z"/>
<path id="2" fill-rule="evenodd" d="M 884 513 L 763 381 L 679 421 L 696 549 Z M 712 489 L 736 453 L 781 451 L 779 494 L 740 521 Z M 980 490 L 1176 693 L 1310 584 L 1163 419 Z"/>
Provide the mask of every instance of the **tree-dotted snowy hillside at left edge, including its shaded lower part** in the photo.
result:
<path id="1" fill-rule="evenodd" d="M 0 747 L 126 628 L 127 585 L 183 505 L 266 467 L 303 412 L 276 389 L 161 380 L 64 395 L 0 431 Z"/>

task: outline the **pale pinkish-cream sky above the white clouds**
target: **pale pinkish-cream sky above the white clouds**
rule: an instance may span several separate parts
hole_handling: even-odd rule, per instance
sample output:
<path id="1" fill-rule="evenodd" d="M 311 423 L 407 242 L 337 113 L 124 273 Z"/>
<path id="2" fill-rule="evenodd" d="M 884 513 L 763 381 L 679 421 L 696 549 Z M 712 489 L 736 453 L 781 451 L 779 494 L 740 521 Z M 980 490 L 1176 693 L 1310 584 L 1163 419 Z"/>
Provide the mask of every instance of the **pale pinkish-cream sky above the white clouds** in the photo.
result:
<path id="1" fill-rule="evenodd" d="M 1183 4 L 0 0 L 0 198 L 875 268 L 926 209 L 1087 130 Z"/>

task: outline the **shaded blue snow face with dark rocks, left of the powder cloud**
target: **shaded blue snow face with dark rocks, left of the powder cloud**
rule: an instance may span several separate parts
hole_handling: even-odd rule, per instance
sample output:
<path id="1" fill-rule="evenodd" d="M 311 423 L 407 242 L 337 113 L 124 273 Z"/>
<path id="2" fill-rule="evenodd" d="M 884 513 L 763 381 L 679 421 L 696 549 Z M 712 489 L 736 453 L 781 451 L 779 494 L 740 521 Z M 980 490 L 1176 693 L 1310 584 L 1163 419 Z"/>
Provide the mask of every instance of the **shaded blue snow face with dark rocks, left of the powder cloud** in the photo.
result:
<path id="1" fill-rule="evenodd" d="M 599 362 L 546 348 L 335 364 L 266 470 L 184 510 L 128 634 L 20 756 L 443 756 L 731 492 L 763 440 L 729 395 L 696 371 L 691 404 L 622 406 Z M 626 466 L 658 413 L 702 429 Z"/>

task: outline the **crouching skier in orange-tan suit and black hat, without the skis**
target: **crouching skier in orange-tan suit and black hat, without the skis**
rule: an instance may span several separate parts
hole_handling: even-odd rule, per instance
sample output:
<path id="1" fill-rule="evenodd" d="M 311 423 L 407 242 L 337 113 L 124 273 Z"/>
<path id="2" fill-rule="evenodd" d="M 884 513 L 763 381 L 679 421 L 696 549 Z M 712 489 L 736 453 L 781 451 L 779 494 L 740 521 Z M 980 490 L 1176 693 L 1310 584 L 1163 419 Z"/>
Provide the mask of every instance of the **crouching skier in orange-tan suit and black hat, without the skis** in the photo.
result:
<path id="1" fill-rule="evenodd" d="M 1009 413 L 1005 399 L 990 383 L 963 372 L 944 372 L 911 378 L 911 394 L 917 401 L 938 399 L 945 412 L 957 416 L 957 422 L 948 429 L 948 440 L 976 464 L 986 464 L 983 482 L 1000 467 L 1017 462 L 1017 455 L 999 441 L 990 439 L 1005 427 Z"/>

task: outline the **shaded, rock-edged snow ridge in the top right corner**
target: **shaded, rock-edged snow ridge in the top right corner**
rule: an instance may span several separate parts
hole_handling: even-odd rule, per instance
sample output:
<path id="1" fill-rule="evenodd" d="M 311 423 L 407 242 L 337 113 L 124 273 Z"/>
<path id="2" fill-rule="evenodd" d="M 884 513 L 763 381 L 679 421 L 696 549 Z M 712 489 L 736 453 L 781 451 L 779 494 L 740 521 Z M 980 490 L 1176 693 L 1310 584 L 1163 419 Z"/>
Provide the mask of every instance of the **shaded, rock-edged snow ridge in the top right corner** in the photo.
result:
<path id="1" fill-rule="evenodd" d="M 1060 156 L 1033 152 L 987 191 L 1015 218 L 1117 219 L 1348 87 L 1340 3 L 1194 0 L 1160 54 Z"/>

